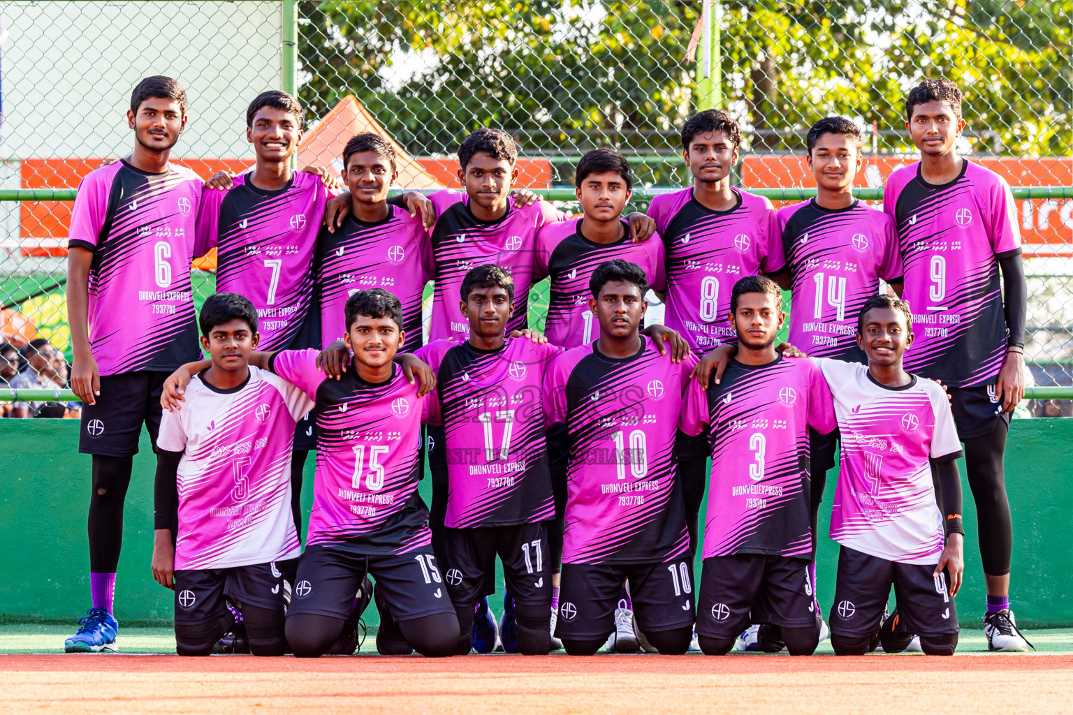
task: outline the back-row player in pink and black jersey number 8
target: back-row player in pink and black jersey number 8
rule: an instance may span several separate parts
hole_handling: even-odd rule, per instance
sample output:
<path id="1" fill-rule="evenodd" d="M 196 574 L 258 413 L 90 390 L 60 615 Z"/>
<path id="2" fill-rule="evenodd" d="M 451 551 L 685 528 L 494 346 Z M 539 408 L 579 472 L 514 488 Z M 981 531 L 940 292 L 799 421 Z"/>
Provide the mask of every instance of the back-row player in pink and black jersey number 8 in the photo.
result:
<path id="1" fill-rule="evenodd" d="M 782 270 L 775 207 L 762 196 L 731 188 L 741 129 L 725 111 L 708 109 L 681 128 L 682 159 L 693 185 L 652 199 L 648 213 L 666 251 L 664 323 L 680 332 L 695 357 L 736 340 L 723 324 L 731 288 L 744 275 Z M 706 435 L 678 441 L 690 550 L 696 550 L 704 498 Z"/>

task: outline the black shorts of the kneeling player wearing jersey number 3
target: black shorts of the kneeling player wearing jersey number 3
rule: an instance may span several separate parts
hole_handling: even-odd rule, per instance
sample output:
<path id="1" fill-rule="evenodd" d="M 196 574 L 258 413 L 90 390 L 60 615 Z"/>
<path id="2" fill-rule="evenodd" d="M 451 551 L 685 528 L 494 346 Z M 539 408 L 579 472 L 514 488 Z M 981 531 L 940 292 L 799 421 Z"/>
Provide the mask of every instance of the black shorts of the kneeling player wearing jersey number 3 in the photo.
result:
<path id="1" fill-rule="evenodd" d="M 817 625 L 808 558 L 743 553 L 710 556 L 701 569 L 696 632 L 736 638 L 750 623 Z"/>

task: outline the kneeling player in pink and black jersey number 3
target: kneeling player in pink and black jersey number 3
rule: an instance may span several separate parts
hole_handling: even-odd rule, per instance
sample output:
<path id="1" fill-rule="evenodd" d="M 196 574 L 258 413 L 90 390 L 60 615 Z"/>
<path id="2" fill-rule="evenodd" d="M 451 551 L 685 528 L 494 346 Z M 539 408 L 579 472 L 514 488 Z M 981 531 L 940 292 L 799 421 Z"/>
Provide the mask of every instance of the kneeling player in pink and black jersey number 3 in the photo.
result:
<path id="1" fill-rule="evenodd" d="M 696 634 L 707 655 L 723 655 L 751 620 L 780 628 L 792 655 L 811 655 L 820 614 L 808 566 L 808 428 L 835 429 L 820 370 L 775 349 L 782 294 L 769 279 L 734 284 L 729 319 L 737 356 L 720 383 L 692 385 L 682 430 L 711 432 L 711 483 Z"/>

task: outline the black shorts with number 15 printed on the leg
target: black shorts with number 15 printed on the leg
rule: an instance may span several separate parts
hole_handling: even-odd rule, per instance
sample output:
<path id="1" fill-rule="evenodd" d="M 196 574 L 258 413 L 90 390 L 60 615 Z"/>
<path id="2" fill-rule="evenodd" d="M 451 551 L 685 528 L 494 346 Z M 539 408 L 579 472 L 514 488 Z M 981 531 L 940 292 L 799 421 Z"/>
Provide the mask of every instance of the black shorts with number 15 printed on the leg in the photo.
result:
<path id="1" fill-rule="evenodd" d="M 430 547 L 400 554 L 359 554 L 310 546 L 298 561 L 286 614 L 346 619 L 366 575 L 376 580 L 395 621 L 455 612 Z"/>

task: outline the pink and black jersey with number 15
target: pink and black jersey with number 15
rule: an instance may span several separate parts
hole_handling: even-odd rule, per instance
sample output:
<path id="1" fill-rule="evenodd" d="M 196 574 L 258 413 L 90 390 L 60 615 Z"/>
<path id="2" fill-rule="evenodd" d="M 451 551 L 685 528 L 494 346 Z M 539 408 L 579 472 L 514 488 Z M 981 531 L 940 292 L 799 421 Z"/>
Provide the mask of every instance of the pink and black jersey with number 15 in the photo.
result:
<path id="1" fill-rule="evenodd" d="M 317 474 L 308 545 L 362 554 L 407 553 L 431 543 L 417 495 L 421 421 L 427 401 L 402 370 L 366 383 L 356 370 L 328 379 L 320 351 L 276 353 L 271 370 L 317 401 Z"/>

